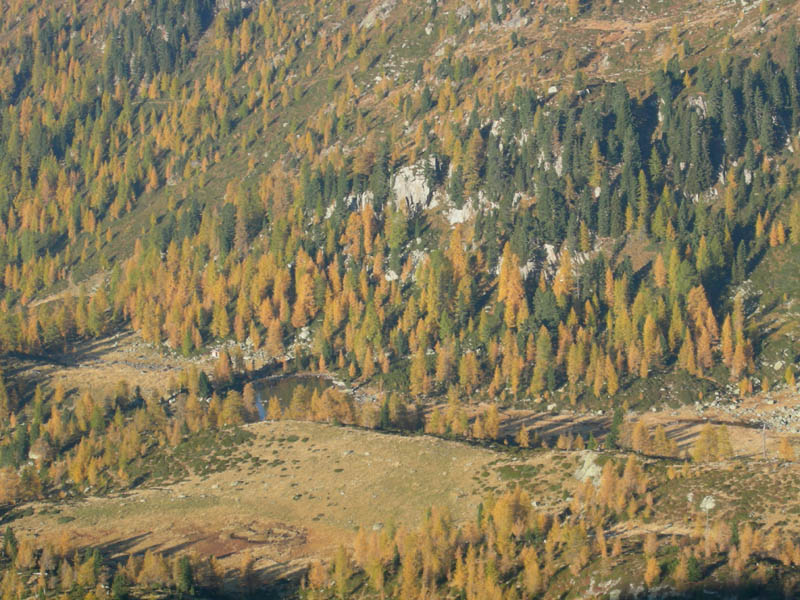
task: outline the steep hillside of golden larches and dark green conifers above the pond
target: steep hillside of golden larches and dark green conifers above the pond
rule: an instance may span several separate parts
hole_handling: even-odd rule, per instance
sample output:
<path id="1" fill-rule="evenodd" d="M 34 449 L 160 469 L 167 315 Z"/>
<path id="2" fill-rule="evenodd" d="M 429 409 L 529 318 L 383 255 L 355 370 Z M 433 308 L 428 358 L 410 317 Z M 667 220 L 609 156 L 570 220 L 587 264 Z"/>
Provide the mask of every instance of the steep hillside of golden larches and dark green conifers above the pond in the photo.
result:
<path id="1" fill-rule="evenodd" d="M 695 58 L 649 25 L 665 51 L 630 83 L 515 33 L 570 7 L 68 8 L 5 16 L 6 350 L 130 326 L 418 398 L 605 398 L 676 368 L 752 389 L 737 286 L 800 235 L 793 27 Z M 438 52 L 397 56 L 403 34 Z"/>

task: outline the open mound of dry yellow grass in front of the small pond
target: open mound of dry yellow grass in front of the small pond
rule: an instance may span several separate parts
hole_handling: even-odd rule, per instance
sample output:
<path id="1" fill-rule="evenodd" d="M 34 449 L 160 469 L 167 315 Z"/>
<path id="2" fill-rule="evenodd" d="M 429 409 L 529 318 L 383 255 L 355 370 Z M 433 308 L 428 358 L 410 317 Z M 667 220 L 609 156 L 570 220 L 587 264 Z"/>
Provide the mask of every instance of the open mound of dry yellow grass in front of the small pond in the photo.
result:
<path id="1" fill-rule="evenodd" d="M 280 464 L 253 468 L 242 461 L 171 485 L 34 503 L 34 514 L 14 528 L 48 539 L 66 532 L 75 547 L 98 546 L 118 557 L 147 549 L 197 552 L 235 568 L 248 552 L 259 569 L 285 574 L 349 543 L 360 524 L 413 526 L 432 505 L 472 518 L 486 487 L 507 485 L 497 468 L 512 460 L 427 436 L 290 421 L 248 429 L 257 437 L 238 452 Z M 531 462 L 546 459 L 531 454 Z"/>

